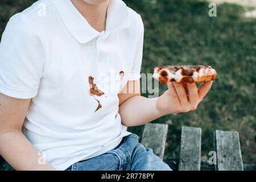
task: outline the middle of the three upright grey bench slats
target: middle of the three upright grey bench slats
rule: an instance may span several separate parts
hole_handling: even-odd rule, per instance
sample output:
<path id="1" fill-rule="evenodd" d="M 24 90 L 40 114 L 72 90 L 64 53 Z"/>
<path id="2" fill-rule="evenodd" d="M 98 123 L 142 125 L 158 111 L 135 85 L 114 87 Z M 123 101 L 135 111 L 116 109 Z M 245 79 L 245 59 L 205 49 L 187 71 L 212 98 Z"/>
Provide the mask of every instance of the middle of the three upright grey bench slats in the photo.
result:
<path id="1" fill-rule="evenodd" d="M 200 171 L 201 128 L 183 126 L 179 171 Z"/>

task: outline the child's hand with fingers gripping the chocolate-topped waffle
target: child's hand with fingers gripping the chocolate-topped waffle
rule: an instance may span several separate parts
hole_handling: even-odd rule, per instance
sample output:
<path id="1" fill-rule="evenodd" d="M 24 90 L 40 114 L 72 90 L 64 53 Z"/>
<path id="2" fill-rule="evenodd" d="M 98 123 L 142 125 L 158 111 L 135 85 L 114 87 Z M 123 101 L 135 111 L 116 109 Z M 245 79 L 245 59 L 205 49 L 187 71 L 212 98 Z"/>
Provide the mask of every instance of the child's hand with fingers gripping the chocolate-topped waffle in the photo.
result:
<path id="1" fill-rule="evenodd" d="M 169 82 L 168 90 L 158 98 L 156 107 L 162 114 L 187 113 L 196 110 L 199 103 L 209 92 L 213 81 L 205 82 L 197 89 L 196 84 L 183 84 Z"/>

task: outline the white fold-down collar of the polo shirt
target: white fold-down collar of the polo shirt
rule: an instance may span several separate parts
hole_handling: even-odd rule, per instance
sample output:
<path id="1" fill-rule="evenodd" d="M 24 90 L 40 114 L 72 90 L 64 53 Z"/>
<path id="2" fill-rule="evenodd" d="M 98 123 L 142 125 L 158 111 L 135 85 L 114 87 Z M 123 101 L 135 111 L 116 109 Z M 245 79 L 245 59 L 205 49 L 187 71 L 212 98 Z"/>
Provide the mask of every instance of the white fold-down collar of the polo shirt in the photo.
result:
<path id="1" fill-rule="evenodd" d="M 71 0 L 53 0 L 53 2 L 65 26 L 78 42 L 87 43 L 101 34 L 90 26 Z M 126 4 L 122 0 L 110 0 L 106 19 L 106 34 L 129 26 L 130 17 Z"/>

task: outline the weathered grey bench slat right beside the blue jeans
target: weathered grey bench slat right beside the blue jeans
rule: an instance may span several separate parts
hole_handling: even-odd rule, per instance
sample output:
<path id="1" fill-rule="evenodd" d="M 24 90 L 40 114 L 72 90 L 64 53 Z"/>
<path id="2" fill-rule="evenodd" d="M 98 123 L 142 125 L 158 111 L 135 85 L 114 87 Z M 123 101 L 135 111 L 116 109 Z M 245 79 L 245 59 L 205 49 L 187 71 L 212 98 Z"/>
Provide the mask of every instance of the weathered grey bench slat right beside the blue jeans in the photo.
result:
<path id="1" fill-rule="evenodd" d="M 147 123 L 144 126 L 142 141 L 144 147 L 152 148 L 155 155 L 163 159 L 168 125 Z"/>

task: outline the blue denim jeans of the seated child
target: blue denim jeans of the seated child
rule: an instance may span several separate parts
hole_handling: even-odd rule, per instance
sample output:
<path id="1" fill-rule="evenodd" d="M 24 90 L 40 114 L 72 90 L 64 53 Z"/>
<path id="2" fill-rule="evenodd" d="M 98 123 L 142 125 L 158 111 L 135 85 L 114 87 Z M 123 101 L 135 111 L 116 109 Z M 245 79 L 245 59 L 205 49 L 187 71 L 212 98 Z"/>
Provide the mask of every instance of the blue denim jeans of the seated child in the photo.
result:
<path id="1" fill-rule="evenodd" d="M 82 160 L 65 171 L 172 171 L 151 148 L 139 143 L 139 137 L 123 137 L 113 150 L 88 160 Z"/>

